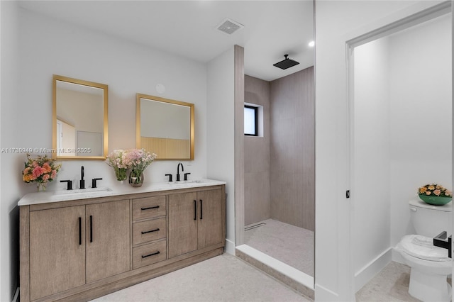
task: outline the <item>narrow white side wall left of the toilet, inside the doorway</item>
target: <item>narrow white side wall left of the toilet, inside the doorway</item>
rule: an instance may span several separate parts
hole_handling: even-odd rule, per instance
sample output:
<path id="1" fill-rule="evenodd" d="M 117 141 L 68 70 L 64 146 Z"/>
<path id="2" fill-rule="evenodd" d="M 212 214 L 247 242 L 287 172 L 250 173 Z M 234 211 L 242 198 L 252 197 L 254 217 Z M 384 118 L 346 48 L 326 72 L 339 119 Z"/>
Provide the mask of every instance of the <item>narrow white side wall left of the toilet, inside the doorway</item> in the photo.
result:
<path id="1" fill-rule="evenodd" d="M 353 127 L 353 263 L 355 289 L 382 267 L 389 249 L 389 48 L 382 38 L 355 47 Z M 388 255 L 390 259 L 390 255 Z M 359 277 L 358 277 L 359 276 Z"/>

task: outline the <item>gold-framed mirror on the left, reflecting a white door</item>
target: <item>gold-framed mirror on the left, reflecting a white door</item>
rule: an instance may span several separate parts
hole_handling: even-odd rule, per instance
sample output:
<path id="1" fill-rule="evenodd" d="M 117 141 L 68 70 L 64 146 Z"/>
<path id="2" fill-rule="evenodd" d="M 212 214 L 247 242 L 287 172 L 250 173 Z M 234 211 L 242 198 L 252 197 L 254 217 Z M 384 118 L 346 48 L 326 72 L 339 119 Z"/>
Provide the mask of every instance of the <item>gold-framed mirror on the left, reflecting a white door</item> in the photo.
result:
<path id="1" fill-rule="evenodd" d="M 52 158 L 105 160 L 108 86 L 53 75 Z"/>

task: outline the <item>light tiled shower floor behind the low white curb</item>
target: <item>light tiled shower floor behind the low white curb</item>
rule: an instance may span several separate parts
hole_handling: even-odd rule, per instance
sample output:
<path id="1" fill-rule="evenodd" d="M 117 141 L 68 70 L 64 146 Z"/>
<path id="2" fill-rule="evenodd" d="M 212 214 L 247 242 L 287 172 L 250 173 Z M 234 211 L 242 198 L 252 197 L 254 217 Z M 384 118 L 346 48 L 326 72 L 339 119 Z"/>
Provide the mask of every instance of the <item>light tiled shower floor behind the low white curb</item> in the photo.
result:
<path id="1" fill-rule="evenodd" d="M 314 276 L 314 232 L 311 230 L 267 219 L 245 226 L 244 243 Z"/>

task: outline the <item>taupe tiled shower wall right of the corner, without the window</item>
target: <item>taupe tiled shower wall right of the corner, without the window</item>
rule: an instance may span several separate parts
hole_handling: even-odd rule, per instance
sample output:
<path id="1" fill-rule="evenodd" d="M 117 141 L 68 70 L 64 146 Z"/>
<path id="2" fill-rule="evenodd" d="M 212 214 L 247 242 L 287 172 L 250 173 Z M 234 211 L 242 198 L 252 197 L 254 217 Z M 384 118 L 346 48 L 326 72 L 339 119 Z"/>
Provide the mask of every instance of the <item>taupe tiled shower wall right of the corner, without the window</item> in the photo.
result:
<path id="1" fill-rule="evenodd" d="M 314 68 L 270 82 L 271 218 L 314 230 Z"/>

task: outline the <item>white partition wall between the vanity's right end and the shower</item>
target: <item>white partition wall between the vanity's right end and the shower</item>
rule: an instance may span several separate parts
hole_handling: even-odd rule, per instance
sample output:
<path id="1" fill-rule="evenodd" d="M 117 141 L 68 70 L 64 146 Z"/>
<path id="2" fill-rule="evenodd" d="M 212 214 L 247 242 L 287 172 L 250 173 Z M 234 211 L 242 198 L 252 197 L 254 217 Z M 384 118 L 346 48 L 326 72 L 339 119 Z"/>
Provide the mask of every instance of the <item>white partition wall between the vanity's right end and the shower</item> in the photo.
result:
<path id="1" fill-rule="evenodd" d="M 234 48 L 208 64 L 207 177 L 227 181 L 226 249 L 235 250 Z"/>

